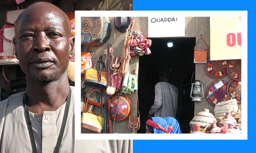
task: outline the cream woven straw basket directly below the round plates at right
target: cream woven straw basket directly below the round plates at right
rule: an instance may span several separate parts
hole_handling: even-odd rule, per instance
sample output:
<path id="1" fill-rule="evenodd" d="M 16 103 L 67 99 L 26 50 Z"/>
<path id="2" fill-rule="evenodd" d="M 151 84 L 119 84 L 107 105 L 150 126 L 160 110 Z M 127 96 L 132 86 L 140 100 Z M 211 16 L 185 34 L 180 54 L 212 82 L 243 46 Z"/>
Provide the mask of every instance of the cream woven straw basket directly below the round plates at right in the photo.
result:
<path id="1" fill-rule="evenodd" d="M 238 110 L 237 100 L 229 99 L 229 100 L 215 104 L 214 116 L 217 120 L 219 120 L 219 118 L 223 117 L 224 113 L 226 112 L 231 113 L 231 111 L 236 112 L 237 110 Z"/>

